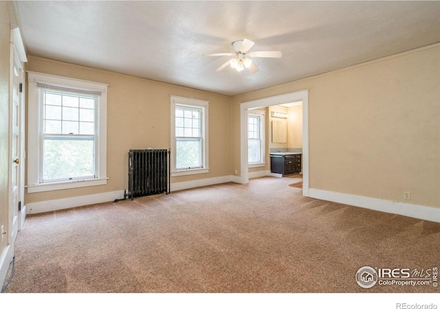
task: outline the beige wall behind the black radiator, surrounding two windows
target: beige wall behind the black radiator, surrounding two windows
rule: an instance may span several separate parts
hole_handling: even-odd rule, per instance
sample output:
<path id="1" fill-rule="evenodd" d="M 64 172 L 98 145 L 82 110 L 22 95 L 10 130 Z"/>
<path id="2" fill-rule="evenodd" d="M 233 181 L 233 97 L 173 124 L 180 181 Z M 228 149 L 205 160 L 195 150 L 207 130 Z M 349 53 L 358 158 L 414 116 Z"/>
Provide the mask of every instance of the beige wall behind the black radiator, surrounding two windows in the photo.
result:
<path id="1" fill-rule="evenodd" d="M 171 182 L 230 175 L 230 97 L 120 73 L 28 56 L 28 70 L 109 84 L 107 111 L 107 185 L 26 194 L 26 203 L 113 192 L 128 187 L 130 149 L 170 148 L 170 95 L 207 100 L 210 172 L 172 177 Z"/>

